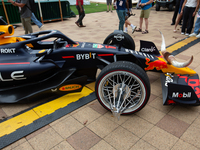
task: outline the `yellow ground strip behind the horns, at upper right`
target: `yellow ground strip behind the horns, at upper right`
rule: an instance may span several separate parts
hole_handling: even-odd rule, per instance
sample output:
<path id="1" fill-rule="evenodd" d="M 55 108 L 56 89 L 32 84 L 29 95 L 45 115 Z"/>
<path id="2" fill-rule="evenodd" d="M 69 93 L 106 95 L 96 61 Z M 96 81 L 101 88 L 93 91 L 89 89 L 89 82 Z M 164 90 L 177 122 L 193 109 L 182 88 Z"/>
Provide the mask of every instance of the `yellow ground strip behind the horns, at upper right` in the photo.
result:
<path id="1" fill-rule="evenodd" d="M 188 43 L 191 43 L 192 41 L 194 41 L 196 39 L 197 39 L 196 37 L 189 37 L 189 38 L 187 38 L 187 39 L 185 39 L 183 41 L 180 41 L 180 42 L 168 47 L 166 50 L 168 52 L 172 53 L 173 51 L 175 51 L 175 50 L 187 45 Z"/>

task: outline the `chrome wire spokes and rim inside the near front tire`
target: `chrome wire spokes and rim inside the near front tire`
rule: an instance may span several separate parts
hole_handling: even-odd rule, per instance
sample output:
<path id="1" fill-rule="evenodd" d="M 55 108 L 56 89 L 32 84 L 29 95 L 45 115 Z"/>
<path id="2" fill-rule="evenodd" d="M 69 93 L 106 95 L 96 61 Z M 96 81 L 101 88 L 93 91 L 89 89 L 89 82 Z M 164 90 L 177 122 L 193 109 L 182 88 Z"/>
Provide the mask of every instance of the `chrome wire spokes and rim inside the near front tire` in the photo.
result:
<path id="1" fill-rule="evenodd" d="M 130 73 L 112 74 L 103 85 L 103 97 L 111 109 L 116 108 L 122 113 L 140 102 L 141 86 Z"/>

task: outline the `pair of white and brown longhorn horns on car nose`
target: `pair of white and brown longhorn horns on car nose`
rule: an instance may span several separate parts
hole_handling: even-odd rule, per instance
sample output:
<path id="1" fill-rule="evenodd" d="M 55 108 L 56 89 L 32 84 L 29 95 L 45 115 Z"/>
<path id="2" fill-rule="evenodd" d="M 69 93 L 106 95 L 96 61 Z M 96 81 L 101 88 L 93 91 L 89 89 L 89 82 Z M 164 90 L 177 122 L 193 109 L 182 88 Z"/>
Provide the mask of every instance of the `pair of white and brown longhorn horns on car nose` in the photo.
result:
<path id="1" fill-rule="evenodd" d="M 191 58 L 186 62 L 178 62 L 175 59 L 175 57 L 166 50 L 164 36 L 163 36 L 162 32 L 160 32 L 160 34 L 162 36 L 161 53 L 162 53 L 164 59 L 167 61 L 167 63 L 169 63 L 177 68 L 184 68 L 184 67 L 189 66 L 193 61 L 193 56 L 191 56 Z"/>

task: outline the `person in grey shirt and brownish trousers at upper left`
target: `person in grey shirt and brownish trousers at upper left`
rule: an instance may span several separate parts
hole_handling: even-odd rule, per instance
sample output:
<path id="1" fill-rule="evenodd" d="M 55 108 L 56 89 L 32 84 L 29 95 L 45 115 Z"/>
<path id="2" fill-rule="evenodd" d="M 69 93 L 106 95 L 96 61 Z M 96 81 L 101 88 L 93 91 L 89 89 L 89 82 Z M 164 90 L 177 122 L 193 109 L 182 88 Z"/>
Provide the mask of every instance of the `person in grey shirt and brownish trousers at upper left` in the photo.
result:
<path id="1" fill-rule="evenodd" d="M 14 6 L 19 7 L 20 17 L 21 17 L 22 25 L 25 30 L 25 34 L 33 33 L 33 29 L 31 26 L 32 12 L 30 9 L 28 9 L 28 7 L 30 8 L 29 0 L 19 0 L 19 2 L 15 2 L 13 0 L 8 0 L 8 2 L 10 2 Z M 25 7 L 26 5 L 28 7 Z"/>

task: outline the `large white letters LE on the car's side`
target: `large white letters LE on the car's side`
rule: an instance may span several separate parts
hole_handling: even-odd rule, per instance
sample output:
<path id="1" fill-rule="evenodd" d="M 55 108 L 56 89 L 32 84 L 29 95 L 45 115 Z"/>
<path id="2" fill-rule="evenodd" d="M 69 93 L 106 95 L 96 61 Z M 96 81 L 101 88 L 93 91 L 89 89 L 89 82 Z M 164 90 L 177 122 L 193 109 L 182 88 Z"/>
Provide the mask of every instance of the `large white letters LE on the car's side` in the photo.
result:
<path id="1" fill-rule="evenodd" d="M 10 74 L 10 78 L 5 79 L 5 78 L 3 78 L 2 73 L 0 72 L 0 81 L 24 80 L 24 79 L 26 79 L 26 77 L 24 77 L 24 74 L 23 74 L 23 73 L 24 73 L 23 70 L 20 70 L 20 71 L 13 71 L 13 72 Z"/>

